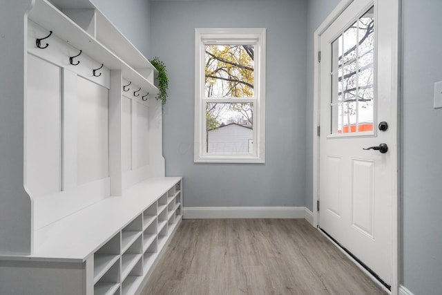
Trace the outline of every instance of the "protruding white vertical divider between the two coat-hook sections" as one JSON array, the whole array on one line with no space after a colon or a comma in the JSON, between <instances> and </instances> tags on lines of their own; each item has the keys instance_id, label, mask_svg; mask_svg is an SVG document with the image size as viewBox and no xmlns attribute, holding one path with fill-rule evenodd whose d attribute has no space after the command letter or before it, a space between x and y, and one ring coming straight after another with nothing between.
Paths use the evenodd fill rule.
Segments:
<instances>
[{"instance_id":1,"label":"protruding white vertical divider between the two coat-hook sections","mask_svg":"<svg viewBox=\"0 0 442 295\"><path fill-rule=\"evenodd\" d=\"M109 90L109 173L111 196L122 195L122 71L111 70Z\"/></svg>"}]
</instances>

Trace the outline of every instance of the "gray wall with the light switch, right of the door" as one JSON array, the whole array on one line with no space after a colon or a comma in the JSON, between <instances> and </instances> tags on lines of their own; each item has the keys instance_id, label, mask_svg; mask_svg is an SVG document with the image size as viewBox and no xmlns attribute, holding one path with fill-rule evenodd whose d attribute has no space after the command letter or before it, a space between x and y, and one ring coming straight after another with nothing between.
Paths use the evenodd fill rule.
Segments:
<instances>
[{"instance_id":1,"label":"gray wall with the light switch, right of the door","mask_svg":"<svg viewBox=\"0 0 442 295\"><path fill-rule=\"evenodd\" d=\"M414 294L442 293L442 1L402 1L403 280Z\"/></svg>"}]
</instances>

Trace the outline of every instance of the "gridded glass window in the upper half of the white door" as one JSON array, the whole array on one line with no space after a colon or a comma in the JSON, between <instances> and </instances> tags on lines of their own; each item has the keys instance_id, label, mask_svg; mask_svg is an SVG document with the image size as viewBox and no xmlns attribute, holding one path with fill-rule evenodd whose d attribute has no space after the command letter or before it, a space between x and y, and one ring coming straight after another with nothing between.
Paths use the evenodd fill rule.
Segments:
<instances>
[{"instance_id":1,"label":"gridded glass window in the upper half of the white door","mask_svg":"<svg viewBox=\"0 0 442 295\"><path fill-rule=\"evenodd\" d=\"M331 77L331 133L373 131L373 8L332 43Z\"/></svg>"}]
</instances>

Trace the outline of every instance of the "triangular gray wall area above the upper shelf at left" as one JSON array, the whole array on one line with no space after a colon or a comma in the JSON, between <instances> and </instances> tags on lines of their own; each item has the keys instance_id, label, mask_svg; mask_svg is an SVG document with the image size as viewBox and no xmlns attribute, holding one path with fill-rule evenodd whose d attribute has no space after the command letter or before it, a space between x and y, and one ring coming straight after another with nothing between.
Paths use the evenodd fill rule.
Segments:
<instances>
[{"instance_id":1,"label":"triangular gray wall area above the upper shelf at left","mask_svg":"<svg viewBox=\"0 0 442 295\"><path fill-rule=\"evenodd\" d=\"M90 0L146 57L149 55L150 5L147 0Z\"/></svg>"}]
</instances>

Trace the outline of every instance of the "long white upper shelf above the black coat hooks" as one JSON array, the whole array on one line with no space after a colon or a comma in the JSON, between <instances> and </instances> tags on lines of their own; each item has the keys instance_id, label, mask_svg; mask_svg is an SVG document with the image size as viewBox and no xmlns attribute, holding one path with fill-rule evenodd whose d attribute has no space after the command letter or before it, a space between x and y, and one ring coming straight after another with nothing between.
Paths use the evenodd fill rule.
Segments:
<instances>
[{"instance_id":1,"label":"long white upper shelf above the black coat hooks","mask_svg":"<svg viewBox=\"0 0 442 295\"><path fill-rule=\"evenodd\" d=\"M64 3L64 1L61 0L55 2L59 5L63 5ZM89 2L86 1L85 3ZM88 11L88 13L90 13L90 5L89 3L89 5L84 8L85 12ZM70 8L70 6L59 6L59 8L73 9ZM43 28L46 28L46 30L52 30L54 35L64 39L71 46L83 50L86 55L102 62L106 68L122 70L125 79L142 87L144 91L148 91L152 94L158 93L158 88L153 84L155 68L148 59L104 17L102 12L94 8L93 28L86 31L61 12L59 8L53 6L46 0L37 0L28 18Z\"/></svg>"}]
</instances>

